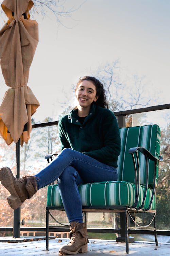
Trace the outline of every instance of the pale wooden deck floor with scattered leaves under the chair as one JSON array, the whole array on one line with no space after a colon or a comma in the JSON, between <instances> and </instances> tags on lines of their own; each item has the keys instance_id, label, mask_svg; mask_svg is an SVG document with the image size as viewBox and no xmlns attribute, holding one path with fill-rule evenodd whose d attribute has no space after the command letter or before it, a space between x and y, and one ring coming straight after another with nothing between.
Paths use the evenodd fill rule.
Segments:
<instances>
[{"instance_id":1,"label":"pale wooden deck floor with scattered leaves under the chair","mask_svg":"<svg viewBox=\"0 0 170 256\"><path fill-rule=\"evenodd\" d=\"M68 243L68 239L62 239L62 242L58 242L59 239L49 240L49 251L46 251L46 241L30 241L19 243L0 242L0 255L1 256L56 256L59 254L59 248L63 244ZM82 256L110 256L110 255L125 255L125 243L117 243L115 241L106 240L89 240L88 252L79 253L77 255ZM133 242L129 243L129 255L135 256L170 256L170 244L159 244L156 247L152 242Z\"/></svg>"}]
</instances>

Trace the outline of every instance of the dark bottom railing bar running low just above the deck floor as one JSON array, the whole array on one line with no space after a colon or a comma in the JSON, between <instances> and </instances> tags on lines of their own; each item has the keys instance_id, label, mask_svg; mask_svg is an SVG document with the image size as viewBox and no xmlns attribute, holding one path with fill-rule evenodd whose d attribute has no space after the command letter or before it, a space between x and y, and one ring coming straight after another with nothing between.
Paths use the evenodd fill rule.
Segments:
<instances>
[{"instance_id":1,"label":"dark bottom railing bar running low just above the deck floor","mask_svg":"<svg viewBox=\"0 0 170 256\"><path fill-rule=\"evenodd\" d=\"M0 231L12 232L12 227L0 227ZM46 232L45 227L21 227L22 232ZM69 228L49 228L49 232L70 232ZM87 228L88 233L117 233L120 234L120 229L105 229L105 228ZM170 230L157 230L158 236L170 236ZM152 234L153 230L149 229L129 229L129 234Z\"/></svg>"}]
</instances>

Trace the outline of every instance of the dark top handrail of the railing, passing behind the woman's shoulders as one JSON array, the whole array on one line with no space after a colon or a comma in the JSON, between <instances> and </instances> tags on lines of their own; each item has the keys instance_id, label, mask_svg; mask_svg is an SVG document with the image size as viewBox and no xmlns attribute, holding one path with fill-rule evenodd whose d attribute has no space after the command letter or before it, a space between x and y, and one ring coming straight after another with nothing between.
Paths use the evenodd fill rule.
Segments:
<instances>
[{"instance_id":1,"label":"dark top handrail of the railing, passing behind the woman's shoulders","mask_svg":"<svg viewBox=\"0 0 170 256\"><path fill-rule=\"evenodd\" d=\"M143 113L143 112L149 112L149 111L163 110L163 109L170 109L170 104L157 105L157 106L151 106L151 107L140 108L140 109L118 111L118 112L114 112L114 114L115 116L120 116L120 115L125 116L125 115L131 115L131 114L137 114L137 113ZM52 126L52 125L58 125L58 121L33 124L32 128L46 127L46 126Z\"/></svg>"}]
</instances>

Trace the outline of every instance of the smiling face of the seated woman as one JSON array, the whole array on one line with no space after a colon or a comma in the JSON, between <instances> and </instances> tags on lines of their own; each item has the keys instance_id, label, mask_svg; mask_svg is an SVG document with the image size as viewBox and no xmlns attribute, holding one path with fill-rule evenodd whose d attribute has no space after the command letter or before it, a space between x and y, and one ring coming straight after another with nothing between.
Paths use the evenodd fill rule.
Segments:
<instances>
[{"instance_id":1,"label":"smiling face of the seated woman","mask_svg":"<svg viewBox=\"0 0 170 256\"><path fill-rule=\"evenodd\" d=\"M96 87L89 80L83 80L75 90L75 96L79 106L82 108L90 108L92 102L97 101Z\"/></svg>"}]
</instances>

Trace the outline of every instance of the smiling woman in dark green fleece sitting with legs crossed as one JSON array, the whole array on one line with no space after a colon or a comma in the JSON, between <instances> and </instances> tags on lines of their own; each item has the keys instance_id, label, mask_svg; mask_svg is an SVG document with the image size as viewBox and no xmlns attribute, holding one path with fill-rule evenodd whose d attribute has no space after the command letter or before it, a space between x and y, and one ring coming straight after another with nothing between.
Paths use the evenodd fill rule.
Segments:
<instances>
[{"instance_id":1,"label":"smiling woman in dark green fleece sitting with legs crossed","mask_svg":"<svg viewBox=\"0 0 170 256\"><path fill-rule=\"evenodd\" d=\"M78 106L59 121L61 153L35 176L14 178L10 168L0 171L2 185L11 193L8 203L18 208L38 189L58 179L62 202L70 223L71 240L60 253L87 252L87 228L82 219L78 185L117 180L121 141L118 123L108 110L103 85L91 76L79 79Z\"/></svg>"}]
</instances>

